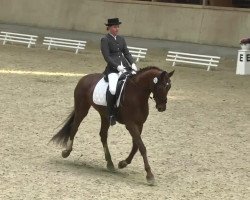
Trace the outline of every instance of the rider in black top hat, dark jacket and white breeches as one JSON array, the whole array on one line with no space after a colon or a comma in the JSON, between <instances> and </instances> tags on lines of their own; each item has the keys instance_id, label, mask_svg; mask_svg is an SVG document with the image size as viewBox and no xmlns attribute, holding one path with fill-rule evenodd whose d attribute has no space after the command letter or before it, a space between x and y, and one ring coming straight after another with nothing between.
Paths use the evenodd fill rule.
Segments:
<instances>
[{"instance_id":1,"label":"rider in black top hat, dark jacket and white breeches","mask_svg":"<svg viewBox=\"0 0 250 200\"><path fill-rule=\"evenodd\" d=\"M107 108L110 125L116 123L115 119L115 92L119 78L119 72L130 71L131 68L137 71L134 60L129 53L125 39L118 35L119 25L121 22L118 18L108 19L105 24L108 34L101 39L101 52L107 62L104 75L108 78L109 90L107 92Z\"/></svg>"}]
</instances>

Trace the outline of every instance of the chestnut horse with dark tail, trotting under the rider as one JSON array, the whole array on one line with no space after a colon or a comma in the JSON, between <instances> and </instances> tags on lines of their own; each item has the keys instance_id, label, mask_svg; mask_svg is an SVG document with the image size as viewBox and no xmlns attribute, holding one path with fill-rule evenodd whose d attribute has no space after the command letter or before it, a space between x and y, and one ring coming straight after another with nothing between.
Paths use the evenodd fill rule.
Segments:
<instances>
[{"instance_id":1,"label":"chestnut horse with dark tail, trotting under the rider","mask_svg":"<svg viewBox=\"0 0 250 200\"><path fill-rule=\"evenodd\" d=\"M173 74L174 71L168 73L155 66L140 69L135 75L127 78L122 97L120 98L120 106L116 112L117 121L120 124L124 124L132 136L131 152L125 160L118 163L118 168L122 169L130 164L139 149L147 174L146 180L150 185L154 185L155 178L149 165L147 150L142 141L141 133L143 124L146 122L149 114L148 101L151 98L151 93L156 103L156 109L159 112L166 110L167 94L171 88L170 77ZM51 141L66 148L62 151L62 157L67 158L72 151L78 127L92 106L99 112L101 117L99 135L103 145L105 160L107 161L107 168L114 171L115 167L107 144L108 129L110 127L107 107L96 105L92 98L94 88L103 76L101 73L88 74L79 80L74 90L74 109L66 119L64 126L52 137Z\"/></svg>"}]
</instances>

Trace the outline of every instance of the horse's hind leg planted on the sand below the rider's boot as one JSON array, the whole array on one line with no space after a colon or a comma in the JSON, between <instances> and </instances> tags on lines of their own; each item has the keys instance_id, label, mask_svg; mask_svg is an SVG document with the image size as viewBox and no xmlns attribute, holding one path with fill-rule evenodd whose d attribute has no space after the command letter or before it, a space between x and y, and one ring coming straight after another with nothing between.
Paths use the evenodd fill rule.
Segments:
<instances>
[{"instance_id":1,"label":"horse's hind leg planted on the sand below the rider's boot","mask_svg":"<svg viewBox=\"0 0 250 200\"><path fill-rule=\"evenodd\" d=\"M103 150L105 154L105 160L107 161L107 168L110 171L114 171L115 167L112 162L111 155L110 155L109 148L108 148L108 143L107 143L108 129L109 129L108 119L105 117L101 117L101 130L99 134L100 134L101 141L102 141L102 146L103 146Z\"/></svg>"}]
</instances>

